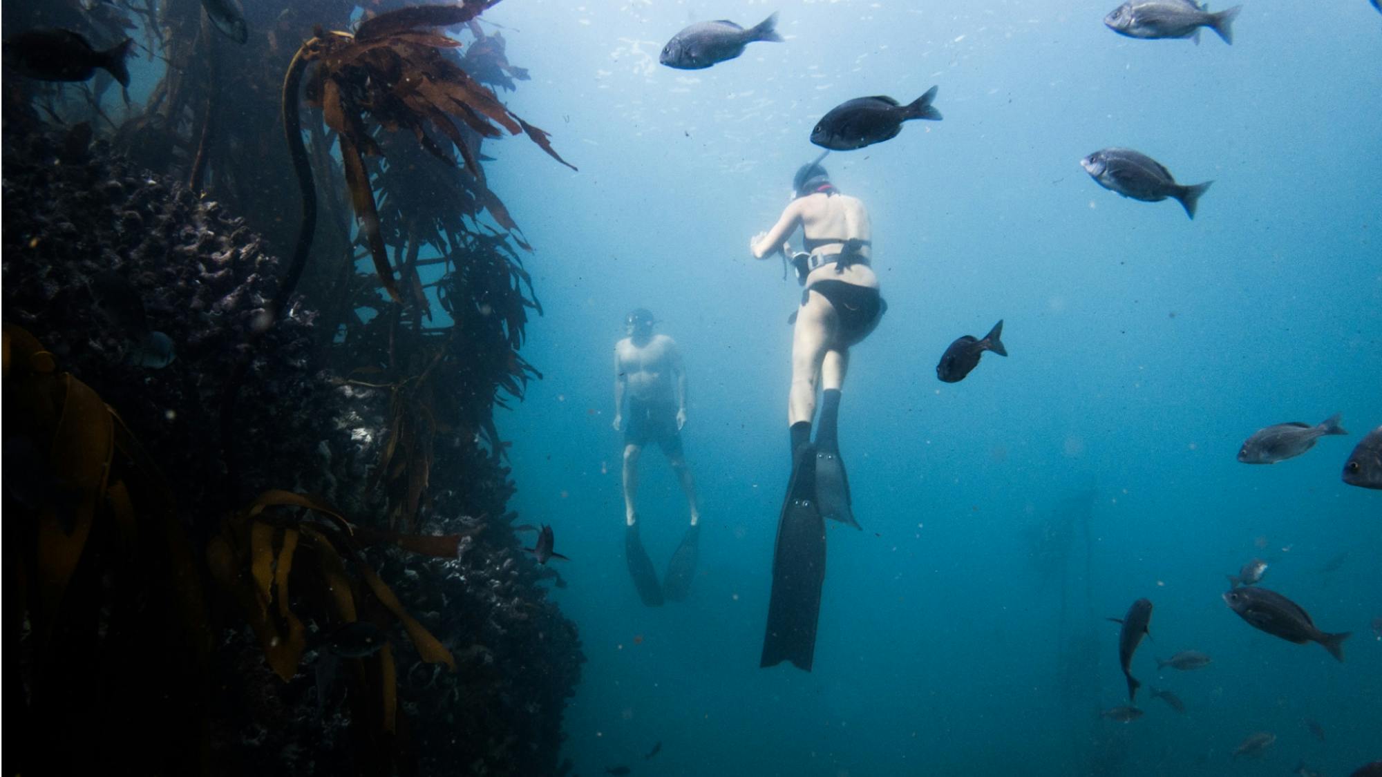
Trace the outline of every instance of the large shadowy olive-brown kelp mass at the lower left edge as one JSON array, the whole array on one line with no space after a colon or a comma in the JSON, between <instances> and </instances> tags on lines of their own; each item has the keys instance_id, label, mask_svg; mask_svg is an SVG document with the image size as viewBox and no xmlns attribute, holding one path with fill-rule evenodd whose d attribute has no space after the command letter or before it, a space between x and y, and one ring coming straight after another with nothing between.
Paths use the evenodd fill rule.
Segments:
<instances>
[{"instance_id":1,"label":"large shadowy olive-brown kelp mass at the lower left edge","mask_svg":"<svg viewBox=\"0 0 1382 777\"><path fill-rule=\"evenodd\" d=\"M15 771L105 758L205 771L210 632L171 489L115 409L32 335L6 324L3 341L6 578L18 592L4 628L28 680L11 712L22 759L41 758ZM64 747L75 727L83 748Z\"/></svg>"}]
</instances>

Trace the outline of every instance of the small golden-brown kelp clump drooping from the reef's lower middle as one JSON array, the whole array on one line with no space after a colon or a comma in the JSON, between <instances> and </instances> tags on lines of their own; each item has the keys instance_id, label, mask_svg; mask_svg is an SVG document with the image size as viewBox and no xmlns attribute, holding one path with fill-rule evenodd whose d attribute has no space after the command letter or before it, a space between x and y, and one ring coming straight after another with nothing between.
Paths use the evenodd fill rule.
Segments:
<instances>
[{"instance_id":1,"label":"small golden-brown kelp clump drooping from the reef's lower middle","mask_svg":"<svg viewBox=\"0 0 1382 777\"><path fill-rule=\"evenodd\" d=\"M315 523L301 510L329 518ZM333 527L322 531L325 525ZM207 546L213 577L239 603L274 672L286 683L307 650L307 629L297 608L310 597L294 597L289 583L326 592L334 611L312 612L319 625L357 621L357 607L375 601L402 624L419 655L428 664L455 669L455 659L426 628L398 604L398 599L361 557L355 528L323 499L287 491L265 491L239 513L225 518L221 534ZM377 532L373 538L381 538ZM383 535L405 547L435 549L417 538ZM457 538L459 542L459 538ZM294 563L303 561L303 563ZM304 565L305 564L305 565ZM347 574L354 568L355 577ZM365 585L361 586L361 582ZM392 719L386 708L384 716Z\"/></svg>"}]
</instances>

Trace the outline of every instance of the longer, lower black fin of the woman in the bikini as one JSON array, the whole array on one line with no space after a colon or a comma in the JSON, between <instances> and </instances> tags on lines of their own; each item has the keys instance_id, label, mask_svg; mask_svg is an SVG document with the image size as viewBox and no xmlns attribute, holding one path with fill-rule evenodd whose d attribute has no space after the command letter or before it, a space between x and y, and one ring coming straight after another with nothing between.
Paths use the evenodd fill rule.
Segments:
<instances>
[{"instance_id":1,"label":"longer, lower black fin of the woman in the bikini","mask_svg":"<svg viewBox=\"0 0 1382 777\"><path fill-rule=\"evenodd\" d=\"M811 671L825 583L825 520L815 505L815 445L796 453L773 549L773 595L759 666L791 661Z\"/></svg>"}]
</instances>

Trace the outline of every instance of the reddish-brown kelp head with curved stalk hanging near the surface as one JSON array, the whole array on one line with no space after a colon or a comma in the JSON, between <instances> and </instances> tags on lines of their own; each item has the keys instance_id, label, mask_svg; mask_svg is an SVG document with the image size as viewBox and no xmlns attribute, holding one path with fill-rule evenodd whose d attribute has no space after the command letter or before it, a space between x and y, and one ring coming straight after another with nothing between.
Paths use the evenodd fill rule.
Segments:
<instances>
[{"instance_id":1,"label":"reddish-brown kelp head with curved stalk hanging near the surface","mask_svg":"<svg viewBox=\"0 0 1382 777\"><path fill-rule=\"evenodd\" d=\"M437 28L474 19L495 1L466 0L457 6L401 8L361 22L354 35L318 32L303 43L285 77L282 101L285 131L304 192L301 234L308 235L307 246L301 238L299 241L294 267L307 259L315 224L315 203L307 207L312 181L297 119L299 84L308 68L312 72L305 86L307 104L321 108L325 123L337 135L361 236L369 246L384 290L395 301L402 297L384 247L375 189L365 165L366 156L381 153L370 130L372 123L391 133L406 130L422 148L446 165L456 163L448 152L448 148L453 149L466 171L481 184L484 171L478 142L467 138L463 129L478 137L500 137L504 130L510 134L525 133L556 160L571 166L551 148L547 133L511 113L488 87L446 55L460 41L435 32ZM498 203L488 189L480 199L486 207ZM491 213L504 223L506 230L517 230L502 205L492 207ZM296 281L299 272L290 270L289 277ZM290 293L292 288L285 286L285 293Z\"/></svg>"}]
</instances>

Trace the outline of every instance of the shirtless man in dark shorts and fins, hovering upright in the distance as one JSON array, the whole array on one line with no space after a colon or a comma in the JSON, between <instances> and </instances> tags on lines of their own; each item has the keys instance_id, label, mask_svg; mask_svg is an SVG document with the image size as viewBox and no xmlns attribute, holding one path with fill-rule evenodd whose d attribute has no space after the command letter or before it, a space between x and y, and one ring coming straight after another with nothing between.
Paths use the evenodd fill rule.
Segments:
<instances>
[{"instance_id":1,"label":"shirtless man in dark shorts and fins, hovering upright in the distance","mask_svg":"<svg viewBox=\"0 0 1382 777\"><path fill-rule=\"evenodd\" d=\"M655 321L644 308L625 317L627 337L614 347L614 429L623 431L625 557L638 596L648 607L663 597L681 600L695 575L701 512L695 481L681 449L681 427L687 422L687 373L681 351L666 335L654 335ZM638 539L638 459L643 447L656 442L666 453L691 507L691 525L668 564L666 581L658 574Z\"/></svg>"}]
</instances>

